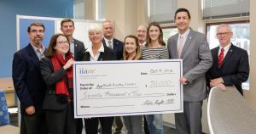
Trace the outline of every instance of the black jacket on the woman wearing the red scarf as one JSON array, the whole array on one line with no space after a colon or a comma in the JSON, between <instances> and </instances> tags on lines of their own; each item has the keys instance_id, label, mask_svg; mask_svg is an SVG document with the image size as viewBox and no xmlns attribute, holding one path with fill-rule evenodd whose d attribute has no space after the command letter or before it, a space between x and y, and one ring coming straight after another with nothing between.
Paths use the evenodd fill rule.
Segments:
<instances>
[{"instance_id":1,"label":"black jacket on the woman wearing the red scarf","mask_svg":"<svg viewBox=\"0 0 256 134\"><path fill-rule=\"evenodd\" d=\"M55 84L61 81L62 76L67 75L66 70L61 68L60 70L54 71L53 64L49 58L42 59L40 65L41 74L47 86L43 109L58 110L67 108L67 96L55 94ZM73 89L69 89L69 91L73 94Z\"/></svg>"}]
</instances>

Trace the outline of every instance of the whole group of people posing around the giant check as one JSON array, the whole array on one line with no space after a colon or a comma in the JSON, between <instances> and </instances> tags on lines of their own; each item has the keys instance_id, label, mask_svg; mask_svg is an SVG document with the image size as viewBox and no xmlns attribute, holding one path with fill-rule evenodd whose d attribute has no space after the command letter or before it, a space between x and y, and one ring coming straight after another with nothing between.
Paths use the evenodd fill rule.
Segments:
<instances>
[{"instance_id":1,"label":"whole group of people posing around the giant check","mask_svg":"<svg viewBox=\"0 0 256 134\"><path fill-rule=\"evenodd\" d=\"M199 134L202 102L207 87L235 86L242 94L241 83L247 81L249 64L247 51L234 46L229 25L218 25L219 47L212 51L204 34L189 27L191 16L186 8L178 8L174 22L178 33L163 41L160 24L139 25L137 36L125 36L124 42L113 37L114 26L104 21L102 28L91 25L88 30L90 47L73 38L74 22L61 21L62 33L51 37L49 47L42 44L44 25L28 26L29 44L16 52L13 60L13 81L20 99L21 134L81 134L83 121L87 134L121 133L163 134L163 115L129 115L74 119L74 61L183 59L183 113L175 114L180 134ZM122 120L123 119L123 120ZM123 124L124 123L124 124ZM99 127L100 124L100 127Z\"/></svg>"}]
</instances>

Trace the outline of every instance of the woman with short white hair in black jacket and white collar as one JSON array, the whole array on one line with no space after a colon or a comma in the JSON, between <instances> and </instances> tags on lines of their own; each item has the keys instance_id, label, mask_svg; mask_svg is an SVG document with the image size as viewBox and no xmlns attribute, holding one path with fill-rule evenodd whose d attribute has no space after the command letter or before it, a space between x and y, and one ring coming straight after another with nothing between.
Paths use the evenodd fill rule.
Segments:
<instances>
[{"instance_id":1,"label":"woman with short white hair in black jacket and white collar","mask_svg":"<svg viewBox=\"0 0 256 134\"><path fill-rule=\"evenodd\" d=\"M91 25L88 30L89 39L92 43L83 54L83 61L117 60L115 53L110 47L102 44L102 29L97 25ZM97 134L98 123L101 123L102 134L112 133L113 117L99 117L85 119L85 131L89 134Z\"/></svg>"}]
</instances>

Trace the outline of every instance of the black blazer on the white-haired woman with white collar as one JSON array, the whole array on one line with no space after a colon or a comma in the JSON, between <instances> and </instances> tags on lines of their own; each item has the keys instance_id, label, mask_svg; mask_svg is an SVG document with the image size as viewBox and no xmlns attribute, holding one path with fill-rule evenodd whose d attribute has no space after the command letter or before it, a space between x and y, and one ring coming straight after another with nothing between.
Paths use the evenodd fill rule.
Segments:
<instances>
[{"instance_id":1,"label":"black blazer on the white-haired woman with white collar","mask_svg":"<svg viewBox=\"0 0 256 134\"><path fill-rule=\"evenodd\" d=\"M115 53L110 47L103 46L104 47L104 53L101 53L99 56L98 61L104 61L104 60L117 60ZM85 52L82 56L82 61L90 61L90 53Z\"/></svg>"}]
</instances>

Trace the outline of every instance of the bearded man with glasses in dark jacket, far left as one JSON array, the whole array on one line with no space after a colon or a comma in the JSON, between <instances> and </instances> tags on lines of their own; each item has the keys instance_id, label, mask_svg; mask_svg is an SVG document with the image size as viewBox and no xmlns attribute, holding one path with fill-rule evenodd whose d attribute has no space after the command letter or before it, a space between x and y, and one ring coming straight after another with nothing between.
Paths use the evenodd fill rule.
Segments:
<instances>
[{"instance_id":1,"label":"bearded man with glasses in dark jacket, far left","mask_svg":"<svg viewBox=\"0 0 256 134\"><path fill-rule=\"evenodd\" d=\"M28 26L30 43L16 52L13 60L13 81L20 99L21 134L48 133L42 104L46 86L40 72L44 58L44 25L34 22Z\"/></svg>"}]
</instances>

